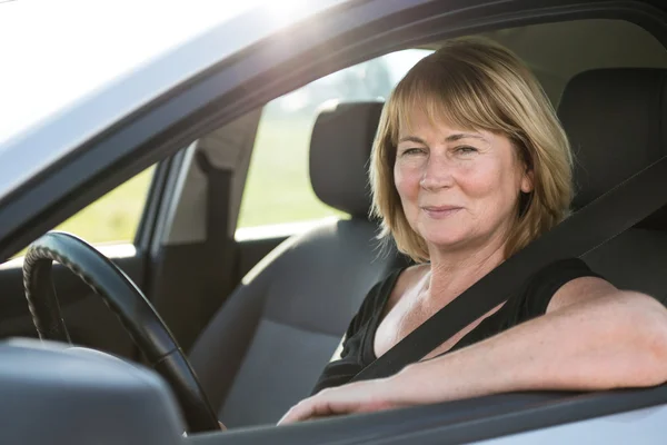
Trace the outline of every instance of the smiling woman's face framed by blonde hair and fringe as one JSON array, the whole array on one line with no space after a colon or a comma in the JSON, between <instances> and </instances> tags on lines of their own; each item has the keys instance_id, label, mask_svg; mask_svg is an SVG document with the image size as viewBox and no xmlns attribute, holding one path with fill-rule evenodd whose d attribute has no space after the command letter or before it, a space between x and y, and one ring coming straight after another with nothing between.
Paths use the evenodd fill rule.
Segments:
<instances>
[{"instance_id":1,"label":"smiling woman's face framed by blonde hair and fringe","mask_svg":"<svg viewBox=\"0 0 667 445\"><path fill-rule=\"evenodd\" d=\"M429 248L504 243L531 175L502 135L432 125L424 113L401 128L395 185L408 222Z\"/></svg>"}]
</instances>

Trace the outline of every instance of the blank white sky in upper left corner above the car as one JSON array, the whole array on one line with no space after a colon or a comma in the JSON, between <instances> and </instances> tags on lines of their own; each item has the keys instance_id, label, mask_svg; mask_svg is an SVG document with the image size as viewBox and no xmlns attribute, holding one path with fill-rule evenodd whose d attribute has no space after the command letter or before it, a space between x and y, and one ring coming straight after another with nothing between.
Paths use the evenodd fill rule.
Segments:
<instances>
[{"instance_id":1,"label":"blank white sky in upper left corner above the car","mask_svg":"<svg viewBox=\"0 0 667 445\"><path fill-rule=\"evenodd\" d=\"M0 0L0 146L265 0Z\"/></svg>"}]
</instances>

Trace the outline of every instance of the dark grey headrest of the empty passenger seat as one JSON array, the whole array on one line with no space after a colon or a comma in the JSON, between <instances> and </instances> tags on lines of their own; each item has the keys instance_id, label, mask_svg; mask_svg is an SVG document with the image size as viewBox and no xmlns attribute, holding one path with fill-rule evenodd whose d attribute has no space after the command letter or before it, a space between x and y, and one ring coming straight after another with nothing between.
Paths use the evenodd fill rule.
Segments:
<instances>
[{"instance_id":1,"label":"dark grey headrest of the empty passenger seat","mask_svg":"<svg viewBox=\"0 0 667 445\"><path fill-rule=\"evenodd\" d=\"M368 166L382 102L340 102L320 111L310 139L310 182L325 204L368 216Z\"/></svg>"}]
</instances>

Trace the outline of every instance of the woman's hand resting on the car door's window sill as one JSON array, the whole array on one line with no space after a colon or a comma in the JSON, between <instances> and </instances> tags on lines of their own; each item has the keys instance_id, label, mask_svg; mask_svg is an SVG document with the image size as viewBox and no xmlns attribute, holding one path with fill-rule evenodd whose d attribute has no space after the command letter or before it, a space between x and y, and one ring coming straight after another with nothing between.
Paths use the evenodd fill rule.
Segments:
<instances>
[{"instance_id":1,"label":"woman's hand resting on the car door's window sill","mask_svg":"<svg viewBox=\"0 0 667 445\"><path fill-rule=\"evenodd\" d=\"M328 388L295 405L278 425L341 414L369 413L407 406L391 378L356 382Z\"/></svg>"}]
</instances>

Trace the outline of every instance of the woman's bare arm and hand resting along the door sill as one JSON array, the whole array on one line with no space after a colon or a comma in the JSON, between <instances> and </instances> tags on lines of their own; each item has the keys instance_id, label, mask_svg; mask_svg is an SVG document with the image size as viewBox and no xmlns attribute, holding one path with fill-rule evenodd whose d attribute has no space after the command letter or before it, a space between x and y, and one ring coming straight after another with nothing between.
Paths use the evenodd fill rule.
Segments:
<instances>
[{"instance_id":1,"label":"woman's bare arm and hand resting along the door sill","mask_svg":"<svg viewBox=\"0 0 667 445\"><path fill-rule=\"evenodd\" d=\"M325 389L281 421L529 389L607 389L667 380L667 309L654 298L577 278L547 314L397 375Z\"/></svg>"}]
</instances>

